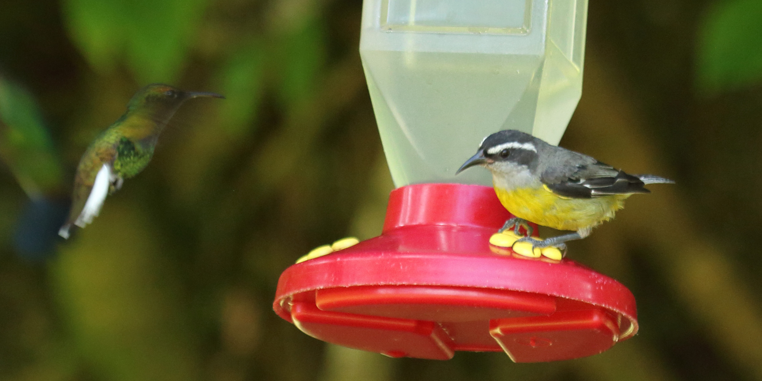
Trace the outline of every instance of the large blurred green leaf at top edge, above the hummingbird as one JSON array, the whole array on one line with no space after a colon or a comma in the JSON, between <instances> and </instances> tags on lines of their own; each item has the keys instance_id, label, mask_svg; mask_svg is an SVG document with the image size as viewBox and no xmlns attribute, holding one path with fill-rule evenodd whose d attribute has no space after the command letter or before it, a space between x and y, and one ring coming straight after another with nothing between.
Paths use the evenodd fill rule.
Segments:
<instances>
[{"instance_id":1,"label":"large blurred green leaf at top edge, above the hummingbird","mask_svg":"<svg viewBox=\"0 0 762 381\"><path fill-rule=\"evenodd\" d=\"M207 0L65 0L69 34L94 69L120 59L140 82L174 82Z\"/></svg>"}]
</instances>

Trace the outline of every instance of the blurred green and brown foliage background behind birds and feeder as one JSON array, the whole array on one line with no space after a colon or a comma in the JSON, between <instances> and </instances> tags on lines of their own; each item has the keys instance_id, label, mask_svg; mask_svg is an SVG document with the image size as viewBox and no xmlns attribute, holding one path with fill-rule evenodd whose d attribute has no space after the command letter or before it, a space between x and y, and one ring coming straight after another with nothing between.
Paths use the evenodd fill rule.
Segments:
<instances>
[{"instance_id":1,"label":"blurred green and brown foliage background behind birds and feeder","mask_svg":"<svg viewBox=\"0 0 762 381\"><path fill-rule=\"evenodd\" d=\"M591 2L562 145L677 180L571 244L635 293L635 338L557 363L392 360L278 318L280 272L377 235L393 187L360 8L0 1L0 379L762 379L758 0ZM80 155L149 82L227 100L185 104L146 171L56 239Z\"/></svg>"}]
</instances>

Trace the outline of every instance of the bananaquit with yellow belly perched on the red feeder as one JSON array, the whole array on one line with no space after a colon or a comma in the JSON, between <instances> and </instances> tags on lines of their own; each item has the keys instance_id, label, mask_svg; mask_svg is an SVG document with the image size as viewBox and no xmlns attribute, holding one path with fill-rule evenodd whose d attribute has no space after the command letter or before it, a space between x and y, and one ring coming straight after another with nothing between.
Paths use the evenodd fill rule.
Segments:
<instances>
[{"instance_id":1,"label":"bananaquit with yellow belly perched on the red feeder","mask_svg":"<svg viewBox=\"0 0 762 381\"><path fill-rule=\"evenodd\" d=\"M517 218L509 219L500 232L519 226L535 248L556 247L584 239L600 223L612 219L632 194L651 193L645 184L673 184L652 174L627 174L588 155L552 146L542 139L516 130L487 136L479 152L456 174L480 165L492 172L498 199ZM559 230L574 230L545 240L533 239L527 221Z\"/></svg>"}]
</instances>

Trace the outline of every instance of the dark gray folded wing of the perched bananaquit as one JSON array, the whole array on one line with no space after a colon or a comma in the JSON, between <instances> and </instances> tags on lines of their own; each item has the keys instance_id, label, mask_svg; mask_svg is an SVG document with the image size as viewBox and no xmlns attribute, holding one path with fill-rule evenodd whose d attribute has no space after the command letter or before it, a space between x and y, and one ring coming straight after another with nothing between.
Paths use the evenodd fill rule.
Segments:
<instances>
[{"instance_id":1,"label":"dark gray folded wing of the perched bananaquit","mask_svg":"<svg viewBox=\"0 0 762 381\"><path fill-rule=\"evenodd\" d=\"M569 198L651 193L637 176L602 162L549 168L540 176L540 181L553 193Z\"/></svg>"}]
</instances>

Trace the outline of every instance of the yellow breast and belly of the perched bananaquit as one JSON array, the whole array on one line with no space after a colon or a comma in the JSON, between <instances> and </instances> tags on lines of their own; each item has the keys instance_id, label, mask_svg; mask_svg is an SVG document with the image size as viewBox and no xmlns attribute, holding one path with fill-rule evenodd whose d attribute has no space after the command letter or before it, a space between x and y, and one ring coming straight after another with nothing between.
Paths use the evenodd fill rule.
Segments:
<instances>
[{"instance_id":1,"label":"yellow breast and belly of the perched bananaquit","mask_svg":"<svg viewBox=\"0 0 762 381\"><path fill-rule=\"evenodd\" d=\"M624 207L629 194L585 199L559 197L545 187L511 191L495 187L500 203L511 214L542 226L559 230L578 230L597 226L613 218Z\"/></svg>"}]
</instances>

